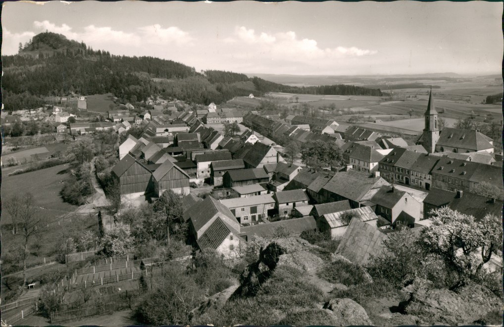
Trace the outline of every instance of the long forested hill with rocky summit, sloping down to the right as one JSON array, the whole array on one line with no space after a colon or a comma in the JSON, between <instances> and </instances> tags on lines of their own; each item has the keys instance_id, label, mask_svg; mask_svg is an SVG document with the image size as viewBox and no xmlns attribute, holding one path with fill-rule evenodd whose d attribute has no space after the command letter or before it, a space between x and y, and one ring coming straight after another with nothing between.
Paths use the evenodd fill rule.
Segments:
<instances>
[{"instance_id":1,"label":"long forested hill with rocky summit, sloping down to the right","mask_svg":"<svg viewBox=\"0 0 504 327\"><path fill-rule=\"evenodd\" d=\"M196 72L171 60L153 57L125 57L93 50L85 43L64 35L43 32L34 36L14 56L3 56L4 105L8 111L26 108L44 96L113 93L131 100L145 100L153 94L188 103L222 103L250 93L288 92L303 94L376 95L379 89L352 85L294 87L244 74L209 70ZM25 100L32 95L30 101Z\"/></svg>"}]
</instances>

